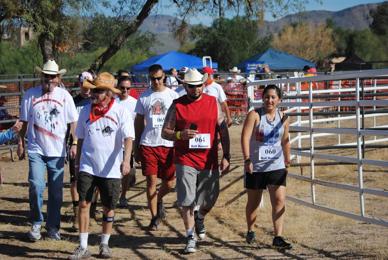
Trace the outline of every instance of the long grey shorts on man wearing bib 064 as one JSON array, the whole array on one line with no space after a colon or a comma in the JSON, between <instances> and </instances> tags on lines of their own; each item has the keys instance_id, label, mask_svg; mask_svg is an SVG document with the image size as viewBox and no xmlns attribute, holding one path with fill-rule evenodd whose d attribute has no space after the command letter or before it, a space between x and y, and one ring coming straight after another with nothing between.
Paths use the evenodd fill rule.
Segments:
<instances>
[{"instance_id":1,"label":"long grey shorts on man wearing bib 064","mask_svg":"<svg viewBox=\"0 0 388 260\"><path fill-rule=\"evenodd\" d=\"M220 193L220 173L218 169L201 170L176 164L178 206L213 207Z\"/></svg>"}]
</instances>

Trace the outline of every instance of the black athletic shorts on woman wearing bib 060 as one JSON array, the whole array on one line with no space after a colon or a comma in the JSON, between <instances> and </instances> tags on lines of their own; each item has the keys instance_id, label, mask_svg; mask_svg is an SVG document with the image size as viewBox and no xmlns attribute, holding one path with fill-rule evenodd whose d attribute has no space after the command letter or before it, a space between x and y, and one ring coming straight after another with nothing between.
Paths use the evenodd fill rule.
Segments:
<instances>
[{"instance_id":1,"label":"black athletic shorts on woman wearing bib 060","mask_svg":"<svg viewBox=\"0 0 388 260\"><path fill-rule=\"evenodd\" d=\"M268 184L286 186L287 172L285 169L269 172L244 172L244 188L267 189Z\"/></svg>"}]
</instances>

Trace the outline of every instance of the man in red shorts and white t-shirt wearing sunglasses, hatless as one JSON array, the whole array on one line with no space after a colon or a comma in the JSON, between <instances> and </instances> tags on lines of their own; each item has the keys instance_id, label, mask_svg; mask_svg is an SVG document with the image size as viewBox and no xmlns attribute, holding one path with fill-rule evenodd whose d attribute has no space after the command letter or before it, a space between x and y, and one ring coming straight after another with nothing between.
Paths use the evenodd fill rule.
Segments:
<instances>
[{"instance_id":1,"label":"man in red shorts and white t-shirt wearing sunglasses, hatless","mask_svg":"<svg viewBox=\"0 0 388 260\"><path fill-rule=\"evenodd\" d=\"M175 165L172 163L174 144L163 139L161 129L168 108L177 92L163 85L165 74L159 64L153 64L148 69L152 87L140 94L136 103L135 148L133 158L142 165L142 174L147 180L147 200L151 211L149 231L158 230L159 219L166 217L163 197L170 192ZM144 127L144 119L147 125ZM161 179L159 191L156 192L156 180Z\"/></svg>"}]
</instances>

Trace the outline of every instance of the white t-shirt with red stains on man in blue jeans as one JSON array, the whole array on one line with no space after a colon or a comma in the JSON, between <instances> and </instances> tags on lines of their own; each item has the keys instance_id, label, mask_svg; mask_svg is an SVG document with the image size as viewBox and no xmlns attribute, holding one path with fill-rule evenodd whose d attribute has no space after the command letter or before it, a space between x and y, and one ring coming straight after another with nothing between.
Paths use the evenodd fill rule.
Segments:
<instances>
[{"instance_id":1,"label":"white t-shirt with red stains on man in blue jeans","mask_svg":"<svg viewBox=\"0 0 388 260\"><path fill-rule=\"evenodd\" d=\"M67 124L77 119L68 91L55 87L47 93L42 91L42 85L27 90L21 103L20 120L28 122L28 152L65 157Z\"/></svg>"}]
</instances>

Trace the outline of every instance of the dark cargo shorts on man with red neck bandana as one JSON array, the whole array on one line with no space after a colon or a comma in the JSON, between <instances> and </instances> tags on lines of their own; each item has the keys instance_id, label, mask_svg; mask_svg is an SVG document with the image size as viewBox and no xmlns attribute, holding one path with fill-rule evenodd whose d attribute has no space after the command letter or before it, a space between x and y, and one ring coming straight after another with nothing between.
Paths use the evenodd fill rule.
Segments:
<instances>
[{"instance_id":1,"label":"dark cargo shorts on man with red neck bandana","mask_svg":"<svg viewBox=\"0 0 388 260\"><path fill-rule=\"evenodd\" d=\"M101 204L111 210L116 208L120 196L121 179L104 178L79 172L77 180L77 192L80 201L92 201L94 188L97 186L100 191Z\"/></svg>"}]
</instances>

